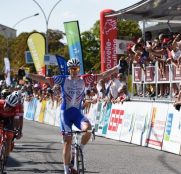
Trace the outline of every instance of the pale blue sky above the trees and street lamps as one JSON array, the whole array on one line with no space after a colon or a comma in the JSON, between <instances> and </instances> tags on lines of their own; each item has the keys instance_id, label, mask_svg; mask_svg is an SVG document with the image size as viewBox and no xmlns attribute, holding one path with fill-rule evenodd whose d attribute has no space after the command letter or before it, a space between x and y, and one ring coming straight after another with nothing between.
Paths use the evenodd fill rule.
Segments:
<instances>
[{"instance_id":1,"label":"pale blue sky above the trees and street lamps","mask_svg":"<svg viewBox=\"0 0 181 174\"><path fill-rule=\"evenodd\" d=\"M58 0L36 0L46 14L46 18ZM140 0L62 0L53 10L48 28L64 31L64 22L78 20L80 31L89 30L99 19L100 11L104 9L120 10ZM45 17L33 0L1 0L0 24L13 27L21 19L39 13L20 22L15 29L19 35L22 32L46 31Z\"/></svg>"}]
</instances>

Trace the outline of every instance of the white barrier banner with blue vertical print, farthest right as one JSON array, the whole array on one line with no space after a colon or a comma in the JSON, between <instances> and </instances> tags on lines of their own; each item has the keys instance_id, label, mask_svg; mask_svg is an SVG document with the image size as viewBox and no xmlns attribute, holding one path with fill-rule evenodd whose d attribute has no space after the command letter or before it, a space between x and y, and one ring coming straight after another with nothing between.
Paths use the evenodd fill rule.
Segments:
<instances>
[{"instance_id":1,"label":"white barrier banner with blue vertical print, farthest right","mask_svg":"<svg viewBox=\"0 0 181 174\"><path fill-rule=\"evenodd\" d=\"M181 145L181 111L169 104L162 150L180 154Z\"/></svg>"}]
</instances>

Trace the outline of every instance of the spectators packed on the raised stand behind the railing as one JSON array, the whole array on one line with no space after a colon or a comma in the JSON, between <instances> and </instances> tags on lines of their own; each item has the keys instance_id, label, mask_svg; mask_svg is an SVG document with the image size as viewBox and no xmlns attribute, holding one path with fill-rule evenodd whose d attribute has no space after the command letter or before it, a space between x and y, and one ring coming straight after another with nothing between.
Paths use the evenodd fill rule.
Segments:
<instances>
[{"instance_id":1,"label":"spectators packed on the raised stand behind the railing","mask_svg":"<svg viewBox=\"0 0 181 174\"><path fill-rule=\"evenodd\" d=\"M160 33L156 38L152 38L150 32L147 32L145 40L139 38L137 43L128 46L127 60L134 66L141 67L143 74L146 75L147 66L158 66L161 78L166 78L169 66L176 68L181 72L181 35L179 33L163 34ZM154 75L156 72L153 72ZM141 85L135 85L135 95L150 96L156 95L155 84L146 85L145 94ZM170 90L169 83L158 84L157 97L178 97L179 83L172 83Z\"/></svg>"}]
</instances>

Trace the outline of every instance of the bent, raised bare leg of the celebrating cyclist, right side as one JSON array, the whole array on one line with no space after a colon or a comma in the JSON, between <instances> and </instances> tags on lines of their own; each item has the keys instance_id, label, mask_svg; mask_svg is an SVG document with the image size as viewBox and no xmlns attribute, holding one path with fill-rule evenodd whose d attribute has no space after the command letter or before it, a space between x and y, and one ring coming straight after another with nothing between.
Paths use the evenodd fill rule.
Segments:
<instances>
[{"instance_id":1,"label":"bent, raised bare leg of the celebrating cyclist, right side","mask_svg":"<svg viewBox=\"0 0 181 174\"><path fill-rule=\"evenodd\" d=\"M81 129L83 131L87 131L87 130L91 130L91 124L89 122L83 122L81 124ZM81 139L81 144L82 145L85 145L88 143L88 141L90 140L91 138L91 132L85 132L83 135L82 135L82 139Z\"/></svg>"}]
</instances>

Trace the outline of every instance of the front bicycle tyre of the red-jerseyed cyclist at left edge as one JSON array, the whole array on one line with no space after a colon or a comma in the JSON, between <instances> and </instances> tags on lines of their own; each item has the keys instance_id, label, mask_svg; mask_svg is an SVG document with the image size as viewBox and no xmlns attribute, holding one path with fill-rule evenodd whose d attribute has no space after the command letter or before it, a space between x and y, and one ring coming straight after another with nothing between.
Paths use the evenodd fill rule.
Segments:
<instances>
[{"instance_id":1,"label":"front bicycle tyre of the red-jerseyed cyclist at left edge","mask_svg":"<svg viewBox=\"0 0 181 174\"><path fill-rule=\"evenodd\" d=\"M0 147L0 172L1 174L4 173L4 167L6 165L6 160L7 160L7 157L6 157L6 144L3 143Z\"/></svg>"}]
</instances>

